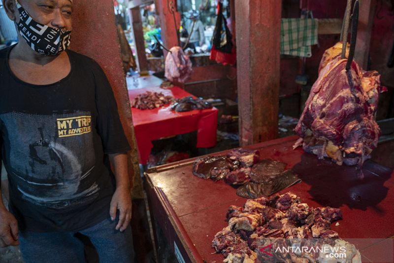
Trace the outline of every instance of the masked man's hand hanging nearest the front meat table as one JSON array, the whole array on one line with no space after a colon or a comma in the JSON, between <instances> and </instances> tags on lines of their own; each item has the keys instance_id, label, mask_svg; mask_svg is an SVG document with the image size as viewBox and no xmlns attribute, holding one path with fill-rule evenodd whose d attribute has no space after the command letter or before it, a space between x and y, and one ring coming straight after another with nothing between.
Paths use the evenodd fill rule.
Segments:
<instances>
[{"instance_id":1,"label":"masked man's hand hanging nearest the front meat table","mask_svg":"<svg viewBox=\"0 0 394 263\"><path fill-rule=\"evenodd\" d=\"M122 232L129 225L131 220L131 194L130 188L116 188L112 196L111 205L109 208L109 215L111 220L116 218L116 210L119 210L119 222L116 225L116 230L120 229Z\"/></svg>"}]
</instances>

